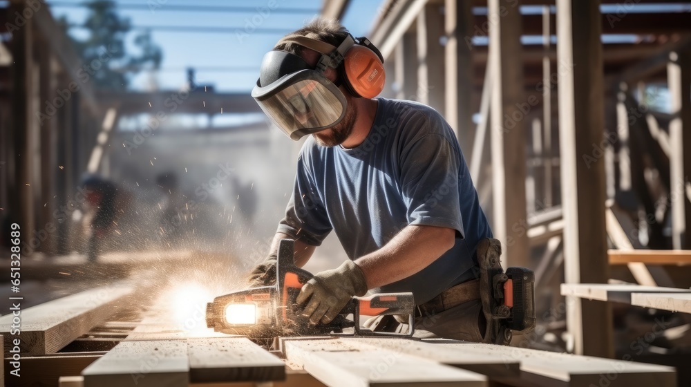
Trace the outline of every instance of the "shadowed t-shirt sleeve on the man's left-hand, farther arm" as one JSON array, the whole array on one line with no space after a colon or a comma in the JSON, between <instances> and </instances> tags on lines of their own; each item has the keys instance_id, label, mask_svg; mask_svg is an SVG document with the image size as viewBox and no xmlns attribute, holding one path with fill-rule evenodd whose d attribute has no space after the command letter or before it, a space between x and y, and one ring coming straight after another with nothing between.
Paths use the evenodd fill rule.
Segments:
<instances>
[{"instance_id":1,"label":"shadowed t-shirt sleeve on the man's left-hand, farther arm","mask_svg":"<svg viewBox=\"0 0 691 387\"><path fill-rule=\"evenodd\" d=\"M332 226L319 194L315 191L310 171L305 168L302 155L298 158L293 193L285 209L285 218L278 223L277 232L301 239L307 245L319 246L331 232Z\"/></svg>"}]
</instances>

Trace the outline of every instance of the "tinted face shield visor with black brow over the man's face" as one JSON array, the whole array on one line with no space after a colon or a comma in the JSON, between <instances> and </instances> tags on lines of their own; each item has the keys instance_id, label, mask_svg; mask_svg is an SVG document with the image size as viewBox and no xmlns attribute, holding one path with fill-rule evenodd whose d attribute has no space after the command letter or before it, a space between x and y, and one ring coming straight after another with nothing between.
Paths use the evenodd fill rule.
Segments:
<instances>
[{"instance_id":1,"label":"tinted face shield visor with black brow over the man's face","mask_svg":"<svg viewBox=\"0 0 691 387\"><path fill-rule=\"evenodd\" d=\"M252 97L292 140L338 124L347 106L345 95L319 70L279 50L264 56Z\"/></svg>"}]
</instances>

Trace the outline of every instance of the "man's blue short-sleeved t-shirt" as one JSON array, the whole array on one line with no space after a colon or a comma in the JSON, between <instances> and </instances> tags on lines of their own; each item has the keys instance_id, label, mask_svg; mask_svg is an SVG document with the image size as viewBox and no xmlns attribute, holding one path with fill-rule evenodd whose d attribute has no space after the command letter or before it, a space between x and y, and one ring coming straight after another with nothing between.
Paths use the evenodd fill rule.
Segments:
<instances>
[{"instance_id":1,"label":"man's blue short-sleeved t-shirt","mask_svg":"<svg viewBox=\"0 0 691 387\"><path fill-rule=\"evenodd\" d=\"M455 229L448 252L421 272L375 290L413 292L420 304L473 278L475 247L492 232L444 117L416 102L378 101L372 129L358 147L321 147L307 138L278 232L318 246L333 229L356 259L407 225Z\"/></svg>"}]
</instances>

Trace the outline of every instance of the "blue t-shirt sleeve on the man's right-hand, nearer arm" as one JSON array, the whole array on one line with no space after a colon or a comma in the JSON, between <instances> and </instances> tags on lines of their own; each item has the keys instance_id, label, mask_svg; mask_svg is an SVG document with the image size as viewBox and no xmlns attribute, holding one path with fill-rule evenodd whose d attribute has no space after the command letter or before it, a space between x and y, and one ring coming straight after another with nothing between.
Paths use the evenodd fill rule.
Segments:
<instances>
[{"instance_id":1,"label":"blue t-shirt sleeve on the man's right-hand, nearer arm","mask_svg":"<svg viewBox=\"0 0 691 387\"><path fill-rule=\"evenodd\" d=\"M464 238L459 198L460 155L438 133L415 139L401 154L401 187L409 225L448 227Z\"/></svg>"}]
</instances>

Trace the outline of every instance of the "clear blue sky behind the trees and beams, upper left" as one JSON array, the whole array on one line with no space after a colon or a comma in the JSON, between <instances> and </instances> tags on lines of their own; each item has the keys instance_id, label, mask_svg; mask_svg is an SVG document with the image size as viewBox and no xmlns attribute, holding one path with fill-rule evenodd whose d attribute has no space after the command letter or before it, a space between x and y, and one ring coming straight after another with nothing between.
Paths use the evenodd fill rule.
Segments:
<instances>
[{"instance_id":1,"label":"clear blue sky behind the trees and beams, upper left","mask_svg":"<svg viewBox=\"0 0 691 387\"><path fill-rule=\"evenodd\" d=\"M86 10L79 6L82 0L48 0L53 3L54 17L65 15L70 23L79 24L86 17ZM287 32L299 28L305 21L319 13L322 0L116 0L122 8L120 15L131 19L133 26L181 26L218 27L223 32L190 30L166 30L152 28L153 41L163 49L161 70L157 73L140 73L131 82L131 88L146 90L158 84L162 90L178 89L187 79L186 68L194 67L199 83L214 84L216 91L250 91L258 76L263 55ZM150 9L147 4L160 4ZM370 31L381 0L352 0L343 24L353 35L366 35ZM129 5L142 9L130 9ZM169 7L171 6L171 7ZM202 8L242 7L244 12L197 12L173 10L176 6ZM269 9L272 6L274 9ZM167 9L169 7L169 9ZM299 9L304 12L285 12ZM268 12L267 12L268 11ZM256 27L257 30L252 31ZM268 32L260 29L270 30ZM70 30L79 37L78 28ZM245 35L246 34L246 35ZM131 32L128 39L135 35ZM154 82L152 82L152 80Z\"/></svg>"}]
</instances>

